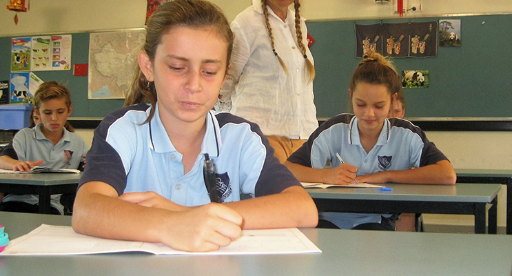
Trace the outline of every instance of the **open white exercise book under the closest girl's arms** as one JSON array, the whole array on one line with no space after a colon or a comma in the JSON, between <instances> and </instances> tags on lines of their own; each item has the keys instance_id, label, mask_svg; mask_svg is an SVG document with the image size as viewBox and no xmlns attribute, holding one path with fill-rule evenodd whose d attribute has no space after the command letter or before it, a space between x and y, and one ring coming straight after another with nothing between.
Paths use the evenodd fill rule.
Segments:
<instances>
[{"instance_id":1,"label":"open white exercise book under the closest girl's arms","mask_svg":"<svg viewBox=\"0 0 512 276\"><path fill-rule=\"evenodd\" d=\"M42 224L14 239L0 255L85 255L116 252L146 252L155 255L243 255L321 253L297 228L243 230L229 246L206 253L174 250L163 244L101 239L75 233L71 226Z\"/></svg>"}]
</instances>

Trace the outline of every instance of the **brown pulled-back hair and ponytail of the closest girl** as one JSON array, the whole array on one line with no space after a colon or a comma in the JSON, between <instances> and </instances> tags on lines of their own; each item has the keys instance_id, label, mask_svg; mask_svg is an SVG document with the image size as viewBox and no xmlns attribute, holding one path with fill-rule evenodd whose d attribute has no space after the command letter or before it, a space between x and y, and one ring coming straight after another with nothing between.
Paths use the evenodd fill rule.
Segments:
<instances>
[{"instance_id":1,"label":"brown pulled-back hair and ponytail of the closest girl","mask_svg":"<svg viewBox=\"0 0 512 276\"><path fill-rule=\"evenodd\" d=\"M229 22L218 6L203 0L174 0L163 3L147 21L146 39L142 50L154 62L156 48L162 42L162 37L174 27L211 28L216 30L227 42L227 63L233 50L234 35L229 28ZM136 103L151 103L150 115L144 124L151 121L156 106L156 90L154 83L147 81L139 66L136 67L134 81L130 93L125 99L125 106Z\"/></svg>"}]
</instances>

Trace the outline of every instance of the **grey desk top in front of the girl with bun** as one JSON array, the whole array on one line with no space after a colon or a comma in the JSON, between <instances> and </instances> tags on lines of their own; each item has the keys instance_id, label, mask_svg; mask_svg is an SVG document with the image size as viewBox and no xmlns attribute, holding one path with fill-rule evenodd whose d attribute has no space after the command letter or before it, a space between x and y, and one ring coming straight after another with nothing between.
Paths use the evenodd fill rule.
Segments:
<instances>
[{"instance_id":1,"label":"grey desk top in front of the girl with bun","mask_svg":"<svg viewBox=\"0 0 512 276\"><path fill-rule=\"evenodd\" d=\"M501 189L500 184L413 185L385 184L391 191L375 188L307 188L318 199L365 199L396 201L491 202Z\"/></svg>"}]
</instances>

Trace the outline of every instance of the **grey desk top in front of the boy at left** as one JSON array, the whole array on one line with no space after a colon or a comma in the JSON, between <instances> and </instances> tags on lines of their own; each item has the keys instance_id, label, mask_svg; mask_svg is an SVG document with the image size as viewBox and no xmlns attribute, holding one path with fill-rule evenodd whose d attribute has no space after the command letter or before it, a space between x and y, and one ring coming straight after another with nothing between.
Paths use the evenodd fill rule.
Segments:
<instances>
[{"instance_id":1,"label":"grey desk top in front of the boy at left","mask_svg":"<svg viewBox=\"0 0 512 276\"><path fill-rule=\"evenodd\" d=\"M1 184L23 184L48 186L60 184L78 184L80 173L0 173Z\"/></svg>"}]
</instances>

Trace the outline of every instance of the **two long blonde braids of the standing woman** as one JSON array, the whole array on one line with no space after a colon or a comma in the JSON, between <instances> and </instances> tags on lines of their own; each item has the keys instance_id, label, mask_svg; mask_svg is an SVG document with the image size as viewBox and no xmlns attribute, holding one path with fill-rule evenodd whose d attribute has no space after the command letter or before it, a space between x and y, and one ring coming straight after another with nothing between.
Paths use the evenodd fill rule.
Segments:
<instances>
[{"instance_id":1,"label":"two long blonde braids of the standing woman","mask_svg":"<svg viewBox=\"0 0 512 276\"><path fill-rule=\"evenodd\" d=\"M281 64L281 67L283 67L283 70L285 70L286 74L288 74L288 69L286 68L285 61L279 57L278 53L276 52L276 48L274 47L274 35L272 34L272 26L270 26L269 21L269 11L267 10L267 0L261 0L261 7L263 8L263 14L265 15L265 23L267 23L267 31L269 33L270 37L270 44L272 45L272 52L274 52L274 55L276 55L279 63ZM295 33L297 36L297 44L298 48L300 48L300 52L302 52L304 59L306 60L306 68L307 72L309 74L309 82L313 81L315 78L315 67L313 66L313 63L307 58L306 54L306 46L303 43L303 31L300 28L300 3L299 0L294 0L294 7L295 7Z\"/></svg>"}]
</instances>

